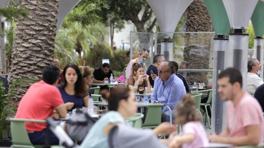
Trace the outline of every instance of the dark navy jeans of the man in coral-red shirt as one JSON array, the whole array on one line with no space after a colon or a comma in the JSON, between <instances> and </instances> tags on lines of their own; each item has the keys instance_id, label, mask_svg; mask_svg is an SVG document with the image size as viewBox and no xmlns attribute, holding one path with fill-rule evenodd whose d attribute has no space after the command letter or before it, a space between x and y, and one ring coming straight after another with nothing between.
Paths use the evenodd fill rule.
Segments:
<instances>
[{"instance_id":1,"label":"dark navy jeans of the man in coral-red shirt","mask_svg":"<svg viewBox=\"0 0 264 148\"><path fill-rule=\"evenodd\" d=\"M46 131L47 131L47 129L44 129L41 132L30 132L30 133L28 133L31 143L34 145L45 144ZM54 133L51 130L49 131L49 144L59 144L58 138L54 135Z\"/></svg>"}]
</instances>

